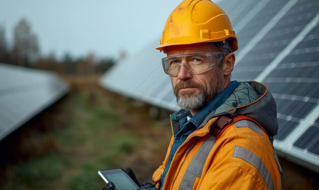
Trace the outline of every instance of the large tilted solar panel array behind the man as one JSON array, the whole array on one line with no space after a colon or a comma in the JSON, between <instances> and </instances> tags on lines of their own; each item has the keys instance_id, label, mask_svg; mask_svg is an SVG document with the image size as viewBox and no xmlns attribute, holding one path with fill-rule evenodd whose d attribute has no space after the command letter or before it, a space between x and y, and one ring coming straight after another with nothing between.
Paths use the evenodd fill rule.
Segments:
<instances>
[{"instance_id":1,"label":"large tilted solar panel array behind the man","mask_svg":"<svg viewBox=\"0 0 319 190\"><path fill-rule=\"evenodd\" d=\"M268 85L277 103L279 130L275 148L319 172L319 2L245 0L221 1L219 5L228 14L238 38L232 78ZM147 49L147 60L155 64L151 66L154 77L149 75L149 79L156 87L135 93L146 95L146 102L156 99L162 103L155 105L175 111L178 107L169 90L170 80L159 68L164 55L159 56L154 50L157 45L152 43L152 49ZM143 63L132 59L126 63L143 68ZM119 73L115 67L112 74ZM135 75L146 73L147 68ZM108 73L101 81L123 90L122 84ZM132 77L129 84L136 88L142 83Z\"/></svg>"}]
</instances>

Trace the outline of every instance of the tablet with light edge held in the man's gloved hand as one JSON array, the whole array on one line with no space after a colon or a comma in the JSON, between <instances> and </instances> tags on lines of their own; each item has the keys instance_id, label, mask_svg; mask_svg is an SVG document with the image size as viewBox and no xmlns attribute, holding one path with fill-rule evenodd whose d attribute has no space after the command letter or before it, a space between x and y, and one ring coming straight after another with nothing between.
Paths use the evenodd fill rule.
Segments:
<instances>
[{"instance_id":1,"label":"tablet with light edge held in the man's gloved hand","mask_svg":"<svg viewBox=\"0 0 319 190\"><path fill-rule=\"evenodd\" d=\"M98 174L105 183L112 181L115 184L116 190L136 190L139 188L139 186L121 168L99 170Z\"/></svg>"}]
</instances>

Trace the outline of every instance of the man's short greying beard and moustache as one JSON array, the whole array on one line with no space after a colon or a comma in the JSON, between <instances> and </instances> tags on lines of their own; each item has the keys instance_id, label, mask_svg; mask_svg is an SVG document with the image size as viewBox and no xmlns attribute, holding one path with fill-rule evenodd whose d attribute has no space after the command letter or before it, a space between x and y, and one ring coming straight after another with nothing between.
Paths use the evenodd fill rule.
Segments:
<instances>
[{"instance_id":1,"label":"man's short greying beard and moustache","mask_svg":"<svg viewBox=\"0 0 319 190\"><path fill-rule=\"evenodd\" d=\"M205 87L193 80L181 80L173 87L178 106L184 110L199 110L223 90L222 69L218 68L217 76L212 77L209 86ZM181 88L196 87L199 93L193 91L179 92Z\"/></svg>"}]
</instances>

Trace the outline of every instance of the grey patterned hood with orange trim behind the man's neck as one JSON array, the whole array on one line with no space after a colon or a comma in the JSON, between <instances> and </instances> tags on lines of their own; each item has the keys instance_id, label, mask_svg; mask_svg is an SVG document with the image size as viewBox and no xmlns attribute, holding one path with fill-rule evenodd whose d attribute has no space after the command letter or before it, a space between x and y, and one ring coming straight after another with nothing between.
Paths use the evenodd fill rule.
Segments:
<instances>
[{"instance_id":1,"label":"grey patterned hood with orange trim behind the man's neck","mask_svg":"<svg viewBox=\"0 0 319 190\"><path fill-rule=\"evenodd\" d=\"M204 126L213 117L236 114L246 115L257 121L270 137L277 134L276 102L268 92L268 87L261 83L239 83L227 100L211 112L200 126Z\"/></svg>"}]
</instances>

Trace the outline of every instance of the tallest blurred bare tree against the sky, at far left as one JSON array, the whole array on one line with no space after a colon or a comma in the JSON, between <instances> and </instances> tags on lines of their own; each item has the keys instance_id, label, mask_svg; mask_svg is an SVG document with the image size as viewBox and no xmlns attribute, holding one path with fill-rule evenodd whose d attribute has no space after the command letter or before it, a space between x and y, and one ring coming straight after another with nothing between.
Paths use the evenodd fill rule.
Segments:
<instances>
[{"instance_id":1,"label":"tallest blurred bare tree against the sky, at far left","mask_svg":"<svg viewBox=\"0 0 319 190\"><path fill-rule=\"evenodd\" d=\"M14 28L13 62L16 65L31 66L39 53L38 40L31 31L31 26L21 19Z\"/></svg>"}]
</instances>

